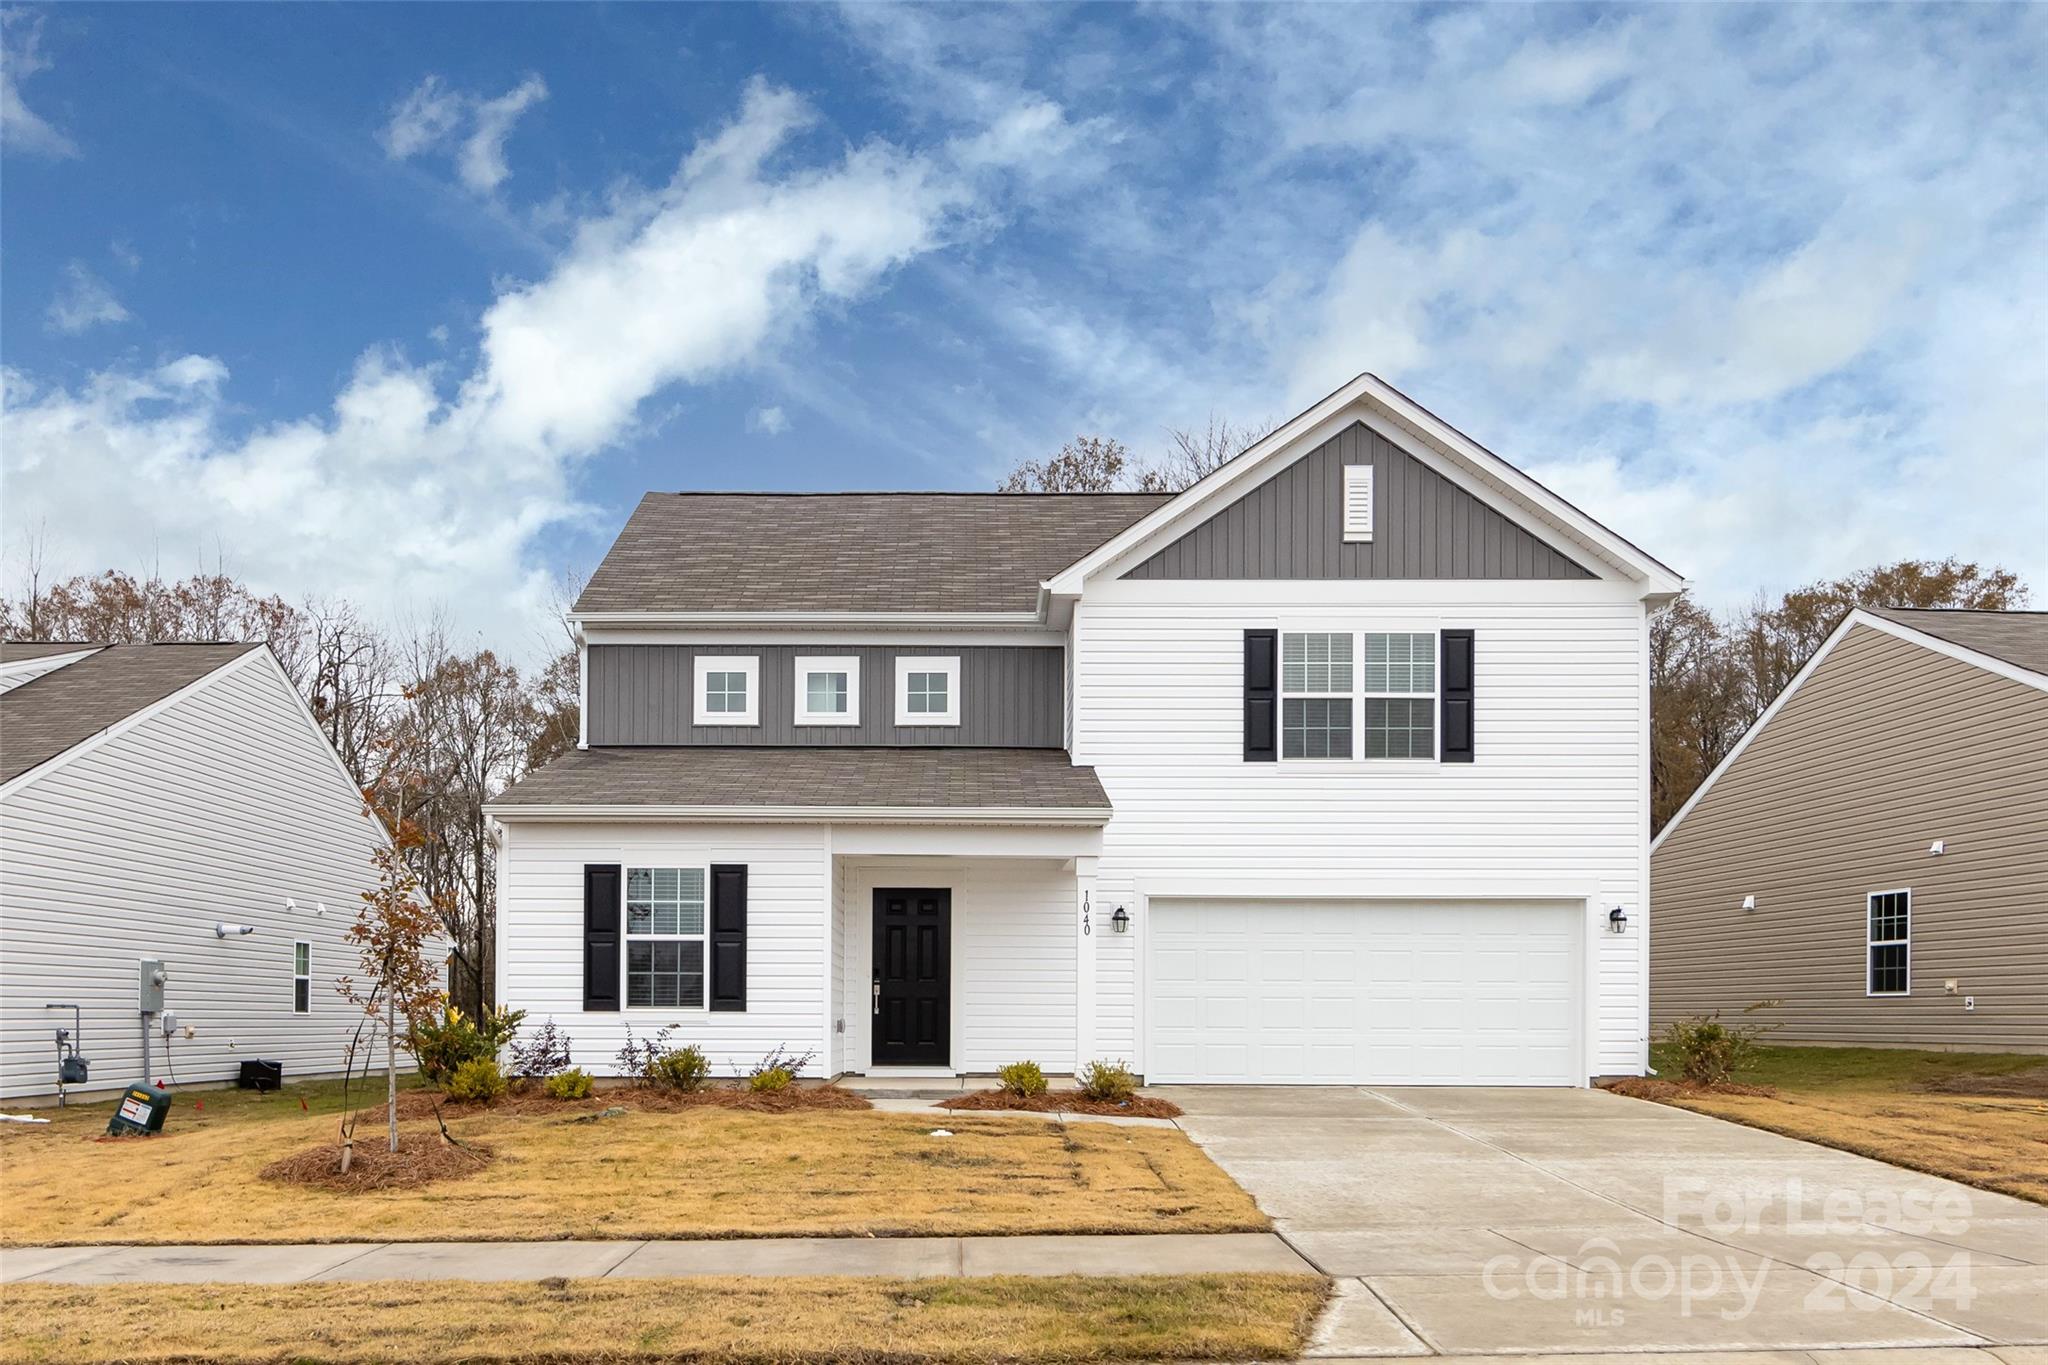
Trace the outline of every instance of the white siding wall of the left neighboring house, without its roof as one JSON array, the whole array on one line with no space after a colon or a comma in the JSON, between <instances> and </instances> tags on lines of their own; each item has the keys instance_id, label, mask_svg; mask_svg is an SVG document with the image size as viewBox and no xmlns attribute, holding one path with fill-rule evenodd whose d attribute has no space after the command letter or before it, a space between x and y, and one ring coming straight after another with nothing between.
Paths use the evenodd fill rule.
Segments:
<instances>
[{"instance_id":1,"label":"white siding wall of the left neighboring house, without its roof","mask_svg":"<svg viewBox=\"0 0 2048 1365\"><path fill-rule=\"evenodd\" d=\"M139 958L164 960L166 1005L193 1027L172 1044L180 1081L231 1078L246 1058L287 1081L342 1070L346 1019L319 1003L356 970L342 935L379 837L266 659L14 788L0 821L0 1093L55 1089L45 1001L84 1007L92 1089L141 1078ZM219 921L256 931L221 939ZM293 1011L301 939L309 1013Z\"/></svg>"}]
</instances>

